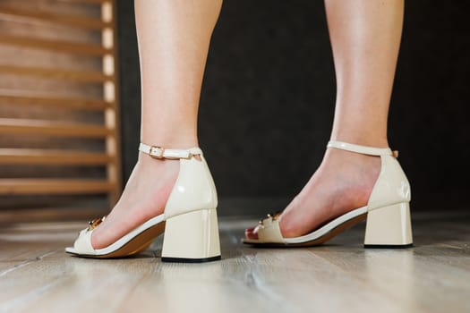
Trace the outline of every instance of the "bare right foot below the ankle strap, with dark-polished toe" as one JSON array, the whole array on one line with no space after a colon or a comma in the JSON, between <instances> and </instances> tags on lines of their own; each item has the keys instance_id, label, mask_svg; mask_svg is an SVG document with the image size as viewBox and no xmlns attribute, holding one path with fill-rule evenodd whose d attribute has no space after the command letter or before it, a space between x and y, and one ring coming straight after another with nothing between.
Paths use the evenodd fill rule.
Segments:
<instances>
[{"instance_id":1,"label":"bare right foot below the ankle strap, with dark-polished toe","mask_svg":"<svg viewBox=\"0 0 470 313\"><path fill-rule=\"evenodd\" d=\"M327 149L319 169L278 217L283 237L311 233L335 217L366 206L379 173L380 157ZM245 235L257 239L257 231L257 227L248 228Z\"/></svg>"}]
</instances>

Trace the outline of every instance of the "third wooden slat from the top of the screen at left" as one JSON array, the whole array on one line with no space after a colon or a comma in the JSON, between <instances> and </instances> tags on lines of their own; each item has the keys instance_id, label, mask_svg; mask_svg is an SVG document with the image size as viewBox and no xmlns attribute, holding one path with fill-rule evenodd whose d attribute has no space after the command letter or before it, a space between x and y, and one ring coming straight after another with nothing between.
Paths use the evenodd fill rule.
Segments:
<instances>
[{"instance_id":1,"label":"third wooden slat from the top of the screen at left","mask_svg":"<svg viewBox=\"0 0 470 313\"><path fill-rule=\"evenodd\" d=\"M70 70L58 70L58 69L46 69L46 68L34 68L34 67L23 67L16 65L0 65L0 72L13 75L30 75L38 76L47 79L56 80L76 80L81 82L105 82L107 80L113 80L112 75L105 75L102 72L90 72L90 71L70 71Z\"/></svg>"}]
</instances>

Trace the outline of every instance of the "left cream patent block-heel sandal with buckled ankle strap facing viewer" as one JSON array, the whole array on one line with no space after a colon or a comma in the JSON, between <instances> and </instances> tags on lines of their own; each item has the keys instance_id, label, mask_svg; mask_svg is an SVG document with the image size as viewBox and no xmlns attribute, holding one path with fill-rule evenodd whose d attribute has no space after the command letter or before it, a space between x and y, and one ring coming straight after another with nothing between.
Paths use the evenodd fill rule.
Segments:
<instances>
[{"instance_id":1,"label":"left cream patent block-heel sandal with buckled ankle strap facing viewer","mask_svg":"<svg viewBox=\"0 0 470 313\"><path fill-rule=\"evenodd\" d=\"M180 162L164 213L98 250L91 245L91 234L104 218L95 219L80 232L73 248L65 251L86 258L122 258L146 250L165 232L162 261L192 263L220 259L217 191L201 149L164 149L141 143L139 150L150 157Z\"/></svg>"}]
</instances>

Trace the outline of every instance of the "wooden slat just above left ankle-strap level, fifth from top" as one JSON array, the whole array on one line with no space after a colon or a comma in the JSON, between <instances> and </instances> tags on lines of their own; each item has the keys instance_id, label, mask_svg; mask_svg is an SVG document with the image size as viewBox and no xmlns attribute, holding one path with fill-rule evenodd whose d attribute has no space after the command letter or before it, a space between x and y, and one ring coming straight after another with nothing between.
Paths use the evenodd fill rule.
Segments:
<instances>
[{"instance_id":1,"label":"wooden slat just above left ankle-strap level, fifth from top","mask_svg":"<svg viewBox=\"0 0 470 313\"><path fill-rule=\"evenodd\" d=\"M61 124L47 121L0 118L0 133L48 135L54 137L105 138L112 130L102 126Z\"/></svg>"}]
</instances>

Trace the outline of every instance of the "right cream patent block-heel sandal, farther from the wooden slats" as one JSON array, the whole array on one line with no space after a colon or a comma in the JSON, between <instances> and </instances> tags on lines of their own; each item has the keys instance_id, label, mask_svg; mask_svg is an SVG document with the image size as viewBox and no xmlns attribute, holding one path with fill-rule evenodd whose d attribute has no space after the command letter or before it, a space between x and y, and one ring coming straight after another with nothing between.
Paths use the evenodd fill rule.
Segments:
<instances>
[{"instance_id":1,"label":"right cream patent block-heel sandal, farther from the wooden slats","mask_svg":"<svg viewBox=\"0 0 470 313\"><path fill-rule=\"evenodd\" d=\"M278 215L268 215L258 225L258 239L244 239L256 246L315 246L336 236L348 227L367 219L365 248L407 248L413 246L411 231L410 184L397 162L397 153L389 148L372 148L341 141L329 141L328 148L376 156L381 159L380 174L365 207L356 208L338 216L312 233L284 238L279 228Z\"/></svg>"}]
</instances>

